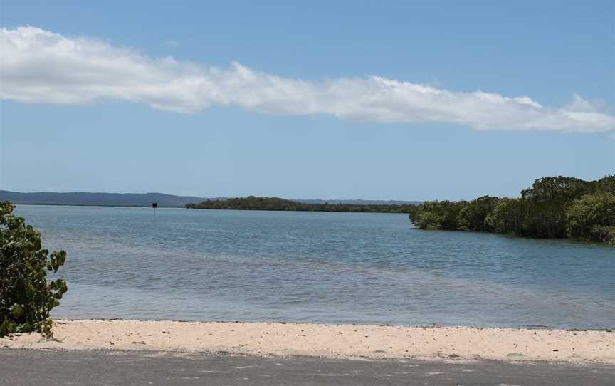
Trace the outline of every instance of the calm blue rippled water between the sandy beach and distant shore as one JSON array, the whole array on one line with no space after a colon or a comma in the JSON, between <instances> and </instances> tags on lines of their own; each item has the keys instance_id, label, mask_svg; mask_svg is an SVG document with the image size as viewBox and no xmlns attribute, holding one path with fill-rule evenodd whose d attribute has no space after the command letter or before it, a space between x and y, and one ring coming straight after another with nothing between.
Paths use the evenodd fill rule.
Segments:
<instances>
[{"instance_id":1,"label":"calm blue rippled water between the sandy beach and distant shore","mask_svg":"<svg viewBox=\"0 0 615 386\"><path fill-rule=\"evenodd\" d=\"M615 248L403 214L19 206L68 252L56 317L615 327Z\"/></svg>"}]
</instances>

